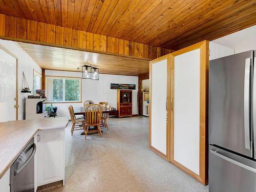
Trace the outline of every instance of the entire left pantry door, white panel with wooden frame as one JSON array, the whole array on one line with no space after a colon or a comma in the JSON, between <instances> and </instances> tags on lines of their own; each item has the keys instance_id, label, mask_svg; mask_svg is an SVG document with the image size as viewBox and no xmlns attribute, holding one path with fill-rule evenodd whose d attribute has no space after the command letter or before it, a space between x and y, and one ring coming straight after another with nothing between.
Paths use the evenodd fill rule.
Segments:
<instances>
[{"instance_id":1,"label":"entire left pantry door, white panel with wooden frame","mask_svg":"<svg viewBox=\"0 0 256 192\"><path fill-rule=\"evenodd\" d=\"M170 55L150 61L150 149L169 161Z\"/></svg>"}]
</instances>

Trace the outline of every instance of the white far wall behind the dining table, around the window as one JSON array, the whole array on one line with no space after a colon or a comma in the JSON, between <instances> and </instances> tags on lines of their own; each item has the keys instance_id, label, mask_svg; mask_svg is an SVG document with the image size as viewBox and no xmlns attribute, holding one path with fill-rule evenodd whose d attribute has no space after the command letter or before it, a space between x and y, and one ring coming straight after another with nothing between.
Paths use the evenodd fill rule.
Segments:
<instances>
[{"instance_id":1,"label":"white far wall behind the dining table, around the window","mask_svg":"<svg viewBox=\"0 0 256 192\"><path fill-rule=\"evenodd\" d=\"M54 71L46 70L46 76L68 76L81 77L80 72ZM107 75L100 74L99 80L82 79L82 102L92 100L95 103L107 101L111 106L116 108L117 90L110 89L110 83L136 84L136 90L133 90L133 115L138 114L138 77L125 75ZM58 107L58 117L66 116L70 119L68 106L82 106L83 103L53 103Z\"/></svg>"}]
</instances>

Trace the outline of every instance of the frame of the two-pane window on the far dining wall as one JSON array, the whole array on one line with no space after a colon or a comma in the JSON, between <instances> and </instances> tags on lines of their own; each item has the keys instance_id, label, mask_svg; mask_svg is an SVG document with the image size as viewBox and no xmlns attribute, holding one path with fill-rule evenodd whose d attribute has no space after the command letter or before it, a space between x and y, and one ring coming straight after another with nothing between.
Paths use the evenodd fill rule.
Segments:
<instances>
[{"instance_id":1,"label":"frame of the two-pane window on the far dining wall","mask_svg":"<svg viewBox=\"0 0 256 192\"><path fill-rule=\"evenodd\" d=\"M82 78L81 77L46 75L45 76L46 96L48 95L48 93L47 93L47 84L48 84L47 80L48 80L48 78L79 80L79 82L80 82L80 98L79 98L79 101L49 101L48 98L47 98L46 103L81 103L82 102ZM63 97L65 98L65 81L63 82Z\"/></svg>"}]
</instances>

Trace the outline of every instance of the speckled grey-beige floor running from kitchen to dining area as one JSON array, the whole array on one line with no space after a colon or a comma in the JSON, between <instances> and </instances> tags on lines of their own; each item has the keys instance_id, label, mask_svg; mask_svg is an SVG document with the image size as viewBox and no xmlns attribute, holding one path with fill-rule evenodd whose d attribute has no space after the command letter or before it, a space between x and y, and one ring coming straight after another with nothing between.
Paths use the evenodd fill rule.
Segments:
<instances>
[{"instance_id":1,"label":"speckled grey-beige floor running from kitchen to dining area","mask_svg":"<svg viewBox=\"0 0 256 192\"><path fill-rule=\"evenodd\" d=\"M84 140L66 130L66 185L40 191L208 191L148 149L148 118L110 119L110 130Z\"/></svg>"}]
</instances>

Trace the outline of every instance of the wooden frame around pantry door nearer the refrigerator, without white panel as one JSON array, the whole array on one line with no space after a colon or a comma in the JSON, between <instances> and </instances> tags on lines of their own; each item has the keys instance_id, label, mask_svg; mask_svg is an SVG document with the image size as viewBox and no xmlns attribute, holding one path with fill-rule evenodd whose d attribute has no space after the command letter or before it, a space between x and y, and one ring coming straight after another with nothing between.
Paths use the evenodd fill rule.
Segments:
<instances>
[{"instance_id":1,"label":"wooden frame around pantry door nearer the refrigerator, without white panel","mask_svg":"<svg viewBox=\"0 0 256 192\"><path fill-rule=\"evenodd\" d=\"M174 98L174 57L183 53L200 49L200 157L199 175L174 160L174 112L170 117L170 157L171 163L182 169L185 173L208 184L208 79L209 79L209 41L204 40L179 51L170 53L170 97ZM175 99L175 98L174 98ZM174 110L173 110L174 111Z\"/></svg>"}]
</instances>

